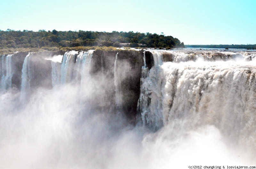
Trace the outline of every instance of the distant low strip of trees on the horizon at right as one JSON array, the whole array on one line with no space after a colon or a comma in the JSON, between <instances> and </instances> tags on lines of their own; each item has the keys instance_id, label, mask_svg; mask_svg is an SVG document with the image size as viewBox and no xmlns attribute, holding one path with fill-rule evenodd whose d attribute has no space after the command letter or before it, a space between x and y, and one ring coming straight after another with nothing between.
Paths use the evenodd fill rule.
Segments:
<instances>
[{"instance_id":1,"label":"distant low strip of trees on the horizon at right","mask_svg":"<svg viewBox=\"0 0 256 169\"><path fill-rule=\"evenodd\" d=\"M230 48L230 49L256 49L255 45L185 45L185 47L198 47L198 48Z\"/></svg>"}]
</instances>

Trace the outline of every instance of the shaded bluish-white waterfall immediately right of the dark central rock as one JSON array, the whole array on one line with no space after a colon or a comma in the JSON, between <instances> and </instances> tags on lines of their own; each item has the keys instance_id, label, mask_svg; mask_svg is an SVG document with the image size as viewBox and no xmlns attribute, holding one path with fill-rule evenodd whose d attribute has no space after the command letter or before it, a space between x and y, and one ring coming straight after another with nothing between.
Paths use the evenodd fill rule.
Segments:
<instances>
[{"instance_id":1,"label":"shaded bluish-white waterfall immediately right of the dark central rock","mask_svg":"<svg viewBox=\"0 0 256 169\"><path fill-rule=\"evenodd\" d=\"M145 57L145 53L143 54ZM163 64L163 55L159 52L152 52L154 58L154 66L148 71L146 61L141 71L141 87L138 109L144 125L150 126L153 130L163 126L161 91L158 90L162 85L161 65ZM143 59L144 60L144 59Z\"/></svg>"}]
</instances>

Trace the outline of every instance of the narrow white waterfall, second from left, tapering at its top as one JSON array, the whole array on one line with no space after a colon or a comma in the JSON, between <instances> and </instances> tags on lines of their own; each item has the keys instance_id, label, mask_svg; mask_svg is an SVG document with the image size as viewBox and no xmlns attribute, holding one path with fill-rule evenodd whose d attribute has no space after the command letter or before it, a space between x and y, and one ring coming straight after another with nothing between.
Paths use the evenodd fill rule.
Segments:
<instances>
[{"instance_id":1,"label":"narrow white waterfall, second from left, tapering at its top","mask_svg":"<svg viewBox=\"0 0 256 169\"><path fill-rule=\"evenodd\" d=\"M32 59L32 53L28 53L23 65L22 65L22 75L21 75L21 99L27 99L27 93L30 92L30 83L34 78L34 66Z\"/></svg>"}]
</instances>

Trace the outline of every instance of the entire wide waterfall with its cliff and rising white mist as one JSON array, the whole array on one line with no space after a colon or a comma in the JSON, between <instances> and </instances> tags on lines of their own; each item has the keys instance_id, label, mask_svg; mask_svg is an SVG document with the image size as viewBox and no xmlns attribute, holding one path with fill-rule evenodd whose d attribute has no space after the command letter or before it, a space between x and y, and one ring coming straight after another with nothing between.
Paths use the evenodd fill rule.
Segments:
<instances>
[{"instance_id":1,"label":"entire wide waterfall with its cliff and rising white mist","mask_svg":"<svg viewBox=\"0 0 256 169\"><path fill-rule=\"evenodd\" d=\"M0 55L0 168L256 165L255 56Z\"/></svg>"}]
</instances>

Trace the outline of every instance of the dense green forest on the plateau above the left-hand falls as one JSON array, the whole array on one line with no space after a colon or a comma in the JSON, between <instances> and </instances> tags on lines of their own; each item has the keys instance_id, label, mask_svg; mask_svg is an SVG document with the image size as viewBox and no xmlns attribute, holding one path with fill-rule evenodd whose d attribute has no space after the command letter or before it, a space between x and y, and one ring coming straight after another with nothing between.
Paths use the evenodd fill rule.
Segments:
<instances>
[{"instance_id":1,"label":"dense green forest on the plateau above the left-hand falls","mask_svg":"<svg viewBox=\"0 0 256 169\"><path fill-rule=\"evenodd\" d=\"M130 47L174 48L184 47L184 43L163 33L140 32L94 32L94 31L45 31L0 30L0 48L41 48L41 47L76 47L76 46L115 46L130 43Z\"/></svg>"}]
</instances>

